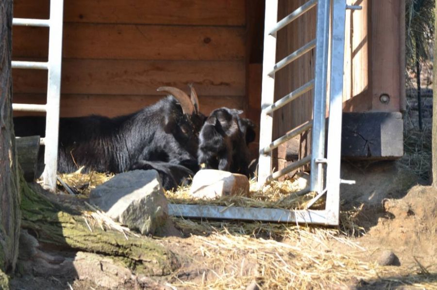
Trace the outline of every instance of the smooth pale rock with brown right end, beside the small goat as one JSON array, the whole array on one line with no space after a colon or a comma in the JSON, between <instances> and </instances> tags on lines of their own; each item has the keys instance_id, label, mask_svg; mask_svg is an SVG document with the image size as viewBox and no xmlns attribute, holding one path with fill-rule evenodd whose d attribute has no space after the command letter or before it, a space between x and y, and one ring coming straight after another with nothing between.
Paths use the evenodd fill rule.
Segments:
<instances>
[{"instance_id":1,"label":"smooth pale rock with brown right end, beside the small goat","mask_svg":"<svg viewBox=\"0 0 437 290\"><path fill-rule=\"evenodd\" d=\"M199 170L193 177L190 194L195 198L248 195L249 179L242 174L215 169Z\"/></svg>"}]
</instances>

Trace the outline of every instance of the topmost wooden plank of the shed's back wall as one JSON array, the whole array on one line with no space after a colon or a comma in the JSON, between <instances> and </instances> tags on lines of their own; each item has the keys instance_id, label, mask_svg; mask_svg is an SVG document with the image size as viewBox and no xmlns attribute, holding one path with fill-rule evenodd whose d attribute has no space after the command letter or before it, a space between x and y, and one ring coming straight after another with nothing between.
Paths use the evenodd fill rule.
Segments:
<instances>
[{"instance_id":1,"label":"topmost wooden plank of the shed's back wall","mask_svg":"<svg viewBox=\"0 0 437 290\"><path fill-rule=\"evenodd\" d=\"M49 0L15 0L14 17L48 18ZM65 0L64 21L243 26L244 0Z\"/></svg>"}]
</instances>

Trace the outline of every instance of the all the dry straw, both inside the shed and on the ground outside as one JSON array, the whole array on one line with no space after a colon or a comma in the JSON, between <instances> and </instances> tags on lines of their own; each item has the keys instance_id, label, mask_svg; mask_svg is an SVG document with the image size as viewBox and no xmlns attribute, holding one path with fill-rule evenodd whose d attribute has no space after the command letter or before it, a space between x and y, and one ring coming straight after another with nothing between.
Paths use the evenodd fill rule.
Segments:
<instances>
[{"instance_id":1,"label":"all the dry straw, both inside the shed and on the ground outside","mask_svg":"<svg viewBox=\"0 0 437 290\"><path fill-rule=\"evenodd\" d=\"M62 175L63 180L82 194L111 176L79 172ZM189 197L189 188L168 191L170 202L220 204L252 207L303 208L313 195L296 196L302 188L297 180L273 182L262 191L251 182L250 197L234 196L217 200ZM291 192L291 195L290 195ZM319 201L323 207L323 200ZM407 285L437 289L436 275L423 267L414 269L382 267L363 259L369 250L354 242L364 230L357 224L362 208L342 212L337 229L276 223L205 221L173 218L175 226L190 236L192 251L187 253L195 278L182 278L182 267L169 278L168 286L177 289L245 289L256 281L261 289L339 289L370 283ZM98 213L98 211L94 211ZM88 219L117 228L99 214ZM109 225L109 226L108 226ZM120 230L120 229L118 229ZM126 233L126 229L121 229ZM336 246L333 246L336 245ZM370 284L370 286L373 284ZM375 284L376 285L376 284ZM371 289L368 288L368 289Z\"/></svg>"}]
</instances>

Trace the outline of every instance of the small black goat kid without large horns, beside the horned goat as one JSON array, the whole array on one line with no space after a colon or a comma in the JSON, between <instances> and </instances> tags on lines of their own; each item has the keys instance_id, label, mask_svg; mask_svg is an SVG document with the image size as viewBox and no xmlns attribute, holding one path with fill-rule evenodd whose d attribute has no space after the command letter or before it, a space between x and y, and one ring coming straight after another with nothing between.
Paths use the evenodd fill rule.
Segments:
<instances>
[{"instance_id":1,"label":"small black goat kid without large horns, beside the horned goat","mask_svg":"<svg viewBox=\"0 0 437 290\"><path fill-rule=\"evenodd\" d=\"M255 126L239 116L242 112L226 107L211 112L199 134L199 165L249 177L247 145L255 139Z\"/></svg>"}]
</instances>

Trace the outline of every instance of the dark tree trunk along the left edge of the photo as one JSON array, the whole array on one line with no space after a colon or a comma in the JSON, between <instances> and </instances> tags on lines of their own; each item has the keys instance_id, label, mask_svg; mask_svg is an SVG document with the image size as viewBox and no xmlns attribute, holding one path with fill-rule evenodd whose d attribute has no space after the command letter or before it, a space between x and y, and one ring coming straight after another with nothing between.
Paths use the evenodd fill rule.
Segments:
<instances>
[{"instance_id":1,"label":"dark tree trunk along the left edge of the photo","mask_svg":"<svg viewBox=\"0 0 437 290\"><path fill-rule=\"evenodd\" d=\"M15 268L20 229L19 179L12 123L11 54L12 0L0 0L0 270L3 273L10 273ZM0 288L2 286L7 288L0 282Z\"/></svg>"}]
</instances>

